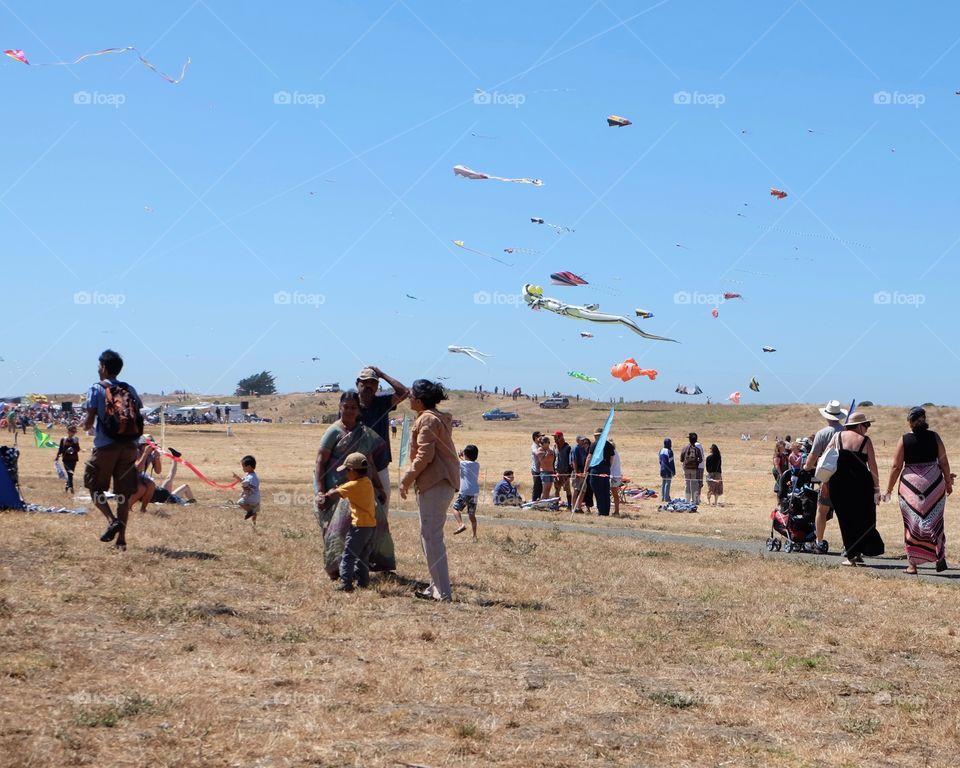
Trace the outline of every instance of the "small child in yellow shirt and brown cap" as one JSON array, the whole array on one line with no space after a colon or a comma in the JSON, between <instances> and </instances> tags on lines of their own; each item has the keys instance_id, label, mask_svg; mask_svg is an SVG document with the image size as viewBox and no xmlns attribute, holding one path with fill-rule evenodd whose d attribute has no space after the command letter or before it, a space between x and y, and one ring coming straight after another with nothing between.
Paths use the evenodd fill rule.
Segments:
<instances>
[{"instance_id":1,"label":"small child in yellow shirt and brown cap","mask_svg":"<svg viewBox=\"0 0 960 768\"><path fill-rule=\"evenodd\" d=\"M347 472L347 482L324 494L327 498L340 496L350 502L350 529L343 542L340 557L340 581L337 592L353 592L353 582L366 589L370 586L370 553L373 551L373 534L377 530L376 499L373 483L367 476L367 457L351 453L337 472Z\"/></svg>"}]
</instances>

